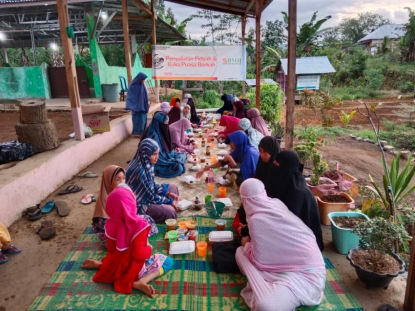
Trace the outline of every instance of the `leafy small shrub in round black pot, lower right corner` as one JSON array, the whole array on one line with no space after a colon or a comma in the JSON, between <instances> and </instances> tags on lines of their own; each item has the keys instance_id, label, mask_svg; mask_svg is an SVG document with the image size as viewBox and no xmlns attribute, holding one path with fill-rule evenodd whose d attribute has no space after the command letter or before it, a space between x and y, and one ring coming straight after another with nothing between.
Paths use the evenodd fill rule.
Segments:
<instances>
[{"instance_id":1,"label":"leafy small shrub in round black pot, lower right corner","mask_svg":"<svg viewBox=\"0 0 415 311\"><path fill-rule=\"evenodd\" d=\"M360 236L359 247L352 248L347 260L367 287L387 288L391 280L405 271L405 263L393 252L395 242L409 239L401 224L382 217L360 222L353 229Z\"/></svg>"}]
</instances>

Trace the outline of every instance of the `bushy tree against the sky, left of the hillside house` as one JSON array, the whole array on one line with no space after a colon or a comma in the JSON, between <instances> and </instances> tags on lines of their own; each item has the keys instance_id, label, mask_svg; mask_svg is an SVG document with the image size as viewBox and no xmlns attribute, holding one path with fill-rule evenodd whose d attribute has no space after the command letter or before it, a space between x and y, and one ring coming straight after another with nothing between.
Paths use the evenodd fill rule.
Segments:
<instances>
[{"instance_id":1,"label":"bushy tree against the sky, left of the hillside house","mask_svg":"<svg viewBox=\"0 0 415 311\"><path fill-rule=\"evenodd\" d=\"M356 43L376 28L390 24L391 21L380 14L372 12L358 13L357 17L345 17L336 27L340 39L346 43Z\"/></svg>"}]
</instances>

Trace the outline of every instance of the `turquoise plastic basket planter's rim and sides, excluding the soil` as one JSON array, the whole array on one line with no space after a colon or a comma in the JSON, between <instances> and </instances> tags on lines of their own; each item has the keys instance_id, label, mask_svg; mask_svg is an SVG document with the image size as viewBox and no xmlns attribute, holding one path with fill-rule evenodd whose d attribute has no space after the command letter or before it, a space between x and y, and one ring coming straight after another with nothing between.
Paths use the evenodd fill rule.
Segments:
<instances>
[{"instance_id":1,"label":"turquoise plastic basket planter's rim and sides, excluding the soil","mask_svg":"<svg viewBox=\"0 0 415 311\"><path fill-rule=\"evenodd\" d=\"M328 218L331 222L331 238L334 246L340 254L346 254L351 248L355 248L359 245L360 237L353 233L352 229L341 228L335 224L333 217L347 216L347 217L361 217L369 220L365 214L355 211L334 211L328 214Z\"/></svg>"}]
</instances>

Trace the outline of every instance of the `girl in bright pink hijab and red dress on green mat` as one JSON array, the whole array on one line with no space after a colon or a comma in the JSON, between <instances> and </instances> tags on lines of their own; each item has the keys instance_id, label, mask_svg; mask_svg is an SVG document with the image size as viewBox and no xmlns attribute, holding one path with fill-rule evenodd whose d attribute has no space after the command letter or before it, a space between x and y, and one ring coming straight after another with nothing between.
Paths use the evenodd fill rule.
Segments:
<instances>
[{"instance_id":1,"label":"girl in bright pink hijab and red dress on green mat","mask_svg":"<svg viewBox=\"0 0 415 311\"><path fill-rule=\"evenodd\" d=\"M106 212L108 251L102 260L86 259L82 268L98 268L93 281L112 283L117 292L131 293L135 288L152 297L155 290L148 282L170 270L173 260L159 253L151 256L150 225L137 215L130 189L115 188L108 195Z\"/></svg>"}]
</instances>

